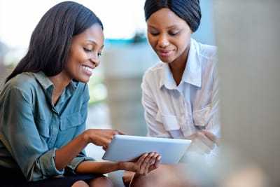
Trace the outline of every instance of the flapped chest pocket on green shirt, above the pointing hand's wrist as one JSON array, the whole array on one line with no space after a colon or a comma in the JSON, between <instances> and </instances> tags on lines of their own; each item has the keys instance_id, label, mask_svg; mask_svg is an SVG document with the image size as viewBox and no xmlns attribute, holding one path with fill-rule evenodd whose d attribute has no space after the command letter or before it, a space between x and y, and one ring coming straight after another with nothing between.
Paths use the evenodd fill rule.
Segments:
<instances>
[{"instance_id":1,"label":"flapped chest pocket on green shirt, above the pointing hand's wrist","mask_svg":"<svg viewBox=\"0 0 280 187\"><path fill-rule=\"evenodd\" d=\"M79 125L83 125L85 119L80 112L72 113L60 119L59 130L68 130Z\"/></svg>"}]
</instances>

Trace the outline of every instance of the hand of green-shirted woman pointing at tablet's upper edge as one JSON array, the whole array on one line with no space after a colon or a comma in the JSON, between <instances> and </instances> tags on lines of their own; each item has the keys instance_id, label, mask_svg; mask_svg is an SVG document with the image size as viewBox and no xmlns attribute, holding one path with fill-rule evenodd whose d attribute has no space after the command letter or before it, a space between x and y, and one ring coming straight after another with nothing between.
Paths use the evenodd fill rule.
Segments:
<instances>
[{"instance_id":1,"label":"hand of green-shirted woman pointing at tablet's upper edge","mask_svg":"<svg viewBox=\"0 0 280 187\"><path fill-rule=\"evenodd\" d=\"M92 143L97 146L102 146L104 150L108 148L108 145L111 143L113 137L116 134L124 134L119 130L110 130L110 129L88 129L85 130L85 139L87 143Z\"/></svg>"}]
</instances>

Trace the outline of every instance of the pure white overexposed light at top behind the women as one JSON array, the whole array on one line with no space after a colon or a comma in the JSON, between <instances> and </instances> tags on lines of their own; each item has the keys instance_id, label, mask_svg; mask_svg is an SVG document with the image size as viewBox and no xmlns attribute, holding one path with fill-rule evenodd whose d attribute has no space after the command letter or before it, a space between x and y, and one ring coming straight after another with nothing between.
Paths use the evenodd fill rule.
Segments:
<instances>
[{"instance_id":1,"label":"pure white overexposed light at top behind the women","mask_svg":"<svg viewBox=\"0 0 280 187\"><path fill-rule=\"evenodd\" d=\"M0 0L0 40L11 48L27 48L43 14L62 1ZM104 24L106 38L131 39L137 31L146 30L144 0L74 1L96 13Z\"/></svg>"}]
</instances>

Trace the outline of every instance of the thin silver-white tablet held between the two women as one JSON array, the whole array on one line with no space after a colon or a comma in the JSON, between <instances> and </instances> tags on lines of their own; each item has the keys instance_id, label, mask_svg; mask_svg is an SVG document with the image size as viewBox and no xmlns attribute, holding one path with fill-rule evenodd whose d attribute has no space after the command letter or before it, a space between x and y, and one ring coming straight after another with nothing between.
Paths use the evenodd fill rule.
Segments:
<instances>
[{"instance_id":1,"label":"thin silver-white tablet held between the two women","mask_svg":"<svg viewBox=\"0 0 280 187\"><path fill-rule=\"evenodd\" d=\"M162 164L176 164L190 146L187 139L137 137L116 134L104 153L103 160L124 162L144 153L159 153Z\"/></svg>"}]
</instances>

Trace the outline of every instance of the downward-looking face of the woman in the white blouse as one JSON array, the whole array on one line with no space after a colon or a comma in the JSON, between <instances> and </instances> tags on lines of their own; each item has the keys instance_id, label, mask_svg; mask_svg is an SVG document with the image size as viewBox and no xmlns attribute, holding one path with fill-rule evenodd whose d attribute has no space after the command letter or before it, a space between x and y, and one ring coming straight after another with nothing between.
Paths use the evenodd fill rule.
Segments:
<instances>
[{"instance_id":1,"label":"downward-looking face of the woman in the white blouse","mask_svg":"<svg viewBox=\"0 0 280 187\"><path fill-rule=\"evenodd\" d=\"M192 31L185 20L162 8L148 18L147 25L148 41L162 62L186 62Z\"/></svg>"}]
</instances>

